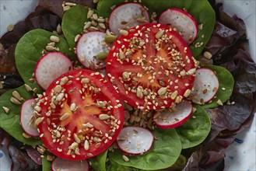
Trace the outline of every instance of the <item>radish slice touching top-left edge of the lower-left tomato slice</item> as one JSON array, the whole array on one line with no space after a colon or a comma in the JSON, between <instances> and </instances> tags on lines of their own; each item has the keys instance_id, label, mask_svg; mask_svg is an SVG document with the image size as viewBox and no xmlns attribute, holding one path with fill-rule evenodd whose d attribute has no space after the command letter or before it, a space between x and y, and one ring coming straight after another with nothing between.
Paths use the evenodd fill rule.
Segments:
<instances>
[{"instance_id":1,"label":"radish slice touching top-left edge of the lower-left tomato slice","mask_svg":"<svg viewBox=\"0 0 256 171\"><path fill-rule=\"evenodd\" d=\"M35 79L42 89L47 87L62 74L72 70L73 64L70 59L60 52L45 54L37 61Z\"/></svg>"}]
</instances>

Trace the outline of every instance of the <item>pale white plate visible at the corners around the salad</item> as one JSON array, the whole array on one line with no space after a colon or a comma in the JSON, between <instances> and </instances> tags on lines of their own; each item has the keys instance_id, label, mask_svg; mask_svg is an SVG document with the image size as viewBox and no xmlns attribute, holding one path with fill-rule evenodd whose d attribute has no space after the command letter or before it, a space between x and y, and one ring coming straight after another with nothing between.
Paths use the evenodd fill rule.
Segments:
<instances>
[{"instance_id":1,"label":"pale white plate visible at the corners around the salad","mask_svg":"<svg viewBox=\"0 0 256 171\"><path fill-rule=\"evenodd\" d=\"M244 19L247 26L247 37L250 41L249 51L256 61L255 57L255 22L256 22L256 1L255 0L218 0L224 2L224 11L230 15L237 14L238 17ZM9 24L16 24L24 19L36 7L38 0L0 0L0 35L7 31ZM243 143L234 142L225 150L225 170L256 170L256 123L251 127L238 134ZM9 155L5 155L6 150L0 149L0 171L10 170Z\"/></svg>"}]
</instances>

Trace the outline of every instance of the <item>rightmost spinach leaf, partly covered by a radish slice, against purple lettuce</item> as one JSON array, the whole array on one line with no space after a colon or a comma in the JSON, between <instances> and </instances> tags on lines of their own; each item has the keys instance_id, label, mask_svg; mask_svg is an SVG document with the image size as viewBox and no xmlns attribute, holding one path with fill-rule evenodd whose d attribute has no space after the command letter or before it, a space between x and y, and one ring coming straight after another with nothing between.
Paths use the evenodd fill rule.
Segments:
<instances>
[{"instance_id":1,"label":"rightmost spinach leaf, partly covered by a radish slice, against purple lettuce","mask_svg":"<svg viewBox=\"0 0 256 171\"><path fill-rule=\"evenodd\" d=\"M230 96L233 92L234 79L233 75L231 75L231 73L226 70L226 68L216 65L205 65L205 67L210 68L212 71L216 72L219 80L219 90L216 92L216 98L212 99L211 103L205 104L202 107L214 108L219 106L219 104L217 104L218 99L220 99L222 103L225 103L228 99L230 99ZM222 88L224 88L224 90Z\"/></svg>"}]
</instances>

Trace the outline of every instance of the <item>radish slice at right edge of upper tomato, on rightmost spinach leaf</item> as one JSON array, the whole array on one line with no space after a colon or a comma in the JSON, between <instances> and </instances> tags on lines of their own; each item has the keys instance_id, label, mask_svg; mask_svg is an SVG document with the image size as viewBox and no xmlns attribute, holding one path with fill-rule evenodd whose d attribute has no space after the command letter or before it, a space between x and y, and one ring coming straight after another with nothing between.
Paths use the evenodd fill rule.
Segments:
<instances>
[{"instance_id":1,"label":"radish slice at right edge of upper tomato, on rightmost spinach leaf","mask_svg":"<svg viewBox=\"0 0 256 171\"><path fill-rule=\"evenodd\" d=\"M208 103L219 89L219 80L209 68L199 68L195 72L194 90L189 99L194 103Z\"/></svg>"}]
</instances>

